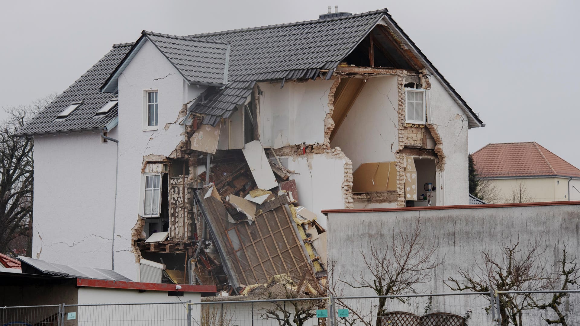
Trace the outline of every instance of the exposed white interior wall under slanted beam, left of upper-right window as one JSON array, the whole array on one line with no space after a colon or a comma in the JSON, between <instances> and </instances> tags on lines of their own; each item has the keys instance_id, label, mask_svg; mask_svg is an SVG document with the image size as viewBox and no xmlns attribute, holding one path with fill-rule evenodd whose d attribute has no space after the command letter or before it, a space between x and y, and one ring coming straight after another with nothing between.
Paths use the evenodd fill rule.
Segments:
<instances>
[{"instance_id":1,"label":"exposed white interior wall under slanted beam, left of upper-right window","mask_svg":"<svg viewBox=\"0 0 580 326\"><path fill-rule=\"evenodd\" d=\"M397 76L368 78L349 113L331 141L353 161L396 161L398 149Z\"/></svg>"}]
</instances>

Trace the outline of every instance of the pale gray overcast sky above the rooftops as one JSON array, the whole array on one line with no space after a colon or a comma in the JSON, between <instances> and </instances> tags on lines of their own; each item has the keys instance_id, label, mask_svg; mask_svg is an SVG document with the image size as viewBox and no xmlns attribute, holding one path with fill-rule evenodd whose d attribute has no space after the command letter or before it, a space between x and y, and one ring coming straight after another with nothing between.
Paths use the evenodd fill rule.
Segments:
<instances>
[{"instance_id":1,"label":"pale gray overcast sky above the rooftops","mask_svg":"<svg viewBox=\"0 0 580 326\"><path fill-rule=\"evenodd\" d=\"M389 9L480 113L486 126L470 129L470 152L535 141L580 168L580 1L572 0L5 1L0 106L62 92L112 44L136 41L142 30L187 35L288 23L334 5Z\"/></svg>"}]
</instances>

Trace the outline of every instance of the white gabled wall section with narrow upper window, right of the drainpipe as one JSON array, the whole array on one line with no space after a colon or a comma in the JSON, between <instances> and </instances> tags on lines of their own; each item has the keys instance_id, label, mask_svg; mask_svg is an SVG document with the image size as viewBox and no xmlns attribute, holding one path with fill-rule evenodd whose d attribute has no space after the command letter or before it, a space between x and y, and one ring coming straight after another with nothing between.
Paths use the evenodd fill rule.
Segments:
<instances>
[{"instance_id":1,"label":"white gabled wall section with narrow upper window, right of the drainpipe","mask_svg":"<svg viewBox=\"0 0 580 326\"><path fill-rule=\"evenodd\" d=\"M184 126L179 124L183 104L204 89L187 85L151 42L143 45L119 78L119 125L122 127L118 136L115 270L129 278L136 278L137 255L132 248L131 229L143 211L144 157L148 155L152 161L162 161L172 155L185 139ZM144 128L146 90L158 91L156 130Z\"/></svg>"}]
</instances>

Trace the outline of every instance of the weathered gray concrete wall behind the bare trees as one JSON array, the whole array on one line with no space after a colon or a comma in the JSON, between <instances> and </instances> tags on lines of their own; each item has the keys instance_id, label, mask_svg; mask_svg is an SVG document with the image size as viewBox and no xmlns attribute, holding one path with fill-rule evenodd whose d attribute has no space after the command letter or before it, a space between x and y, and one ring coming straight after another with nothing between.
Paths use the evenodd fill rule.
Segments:
<instances>
[{"instance_id":1,"label":"weathered gray concrete wall behind the bare trees","mask_svg":"<svg viewBox=\"0 0 580 326\"><path fill-rule=\"evenodd\" d=\"M524 248L538 238L547 247L543 258L548 260L549 268L559 259L564 245L571 256L577 255L580 248L579 218L579 204L328 213L328 259L329 262L336 260L332 271L334 277L353 281L362 275L372 280L369 271L365 270L360 251L368 252L371 241L390 242L393 234L411 229L420 219L422 234L434 242L438 257L445 262L436 268L429 282L418 288L426 294L452 292L443 280L449 276L461 278L458 270L477 268L476 262L483 262L483 251L499 253L503 244L516 242L518 238ZM344 295L374 293L346 286ZM575 296L575 300L578 299L580 295ZM392 309L422 315L426 302L416 301L415 307L393 305ZM434 298L431 311L463 315L467 309L472 309L483 322L487 318L482 314L485 304L481 299L467 296Z\"/></svg>"}]
</instances>

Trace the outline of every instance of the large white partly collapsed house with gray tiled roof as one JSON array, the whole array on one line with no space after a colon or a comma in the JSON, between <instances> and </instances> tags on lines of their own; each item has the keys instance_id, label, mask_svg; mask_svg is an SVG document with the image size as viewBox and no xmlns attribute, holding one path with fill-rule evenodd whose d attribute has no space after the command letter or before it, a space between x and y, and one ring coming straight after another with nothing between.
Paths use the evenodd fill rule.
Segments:
<instances>
[{"instance_id":1,"label":"large white partly collapsed house with gray tiled roof","mask_svg":"<svg viewBox=\"0 0 580 326\"><path fill-rule=\"evenodd\" d=\"M194 282L201 272L183 266L192 256L193 264L203 254L195 268L208 269L230 266L220 260L229 256L224 245L244 256L232 237L245 234L230 234L227 224L240 221L238 211L256 220L275 212L244 198L232 204L231 195L287 191L289 202L277 202L284 212L298 202L314 214L278 226L303 240L316 229L322 242L321 209L467 204L467 131L480 126L386 9L197 35L143 31L114 45L18 132L34 136L32 256L132 279L147 256ZM210 182L217 194L202 188ZM204 206L213 197L225 244L203 222L215 222ZM266 254L255 240L270 235L259 227L250 241L262 257L255 261L284 273L260 255L279 259L295 242L270 230L284 247ZM143 242L152 235L157 241ZM318 272L314 260L325 261L309 245L296 248ZM252 280L268 277L238 267L250 268Z\"/></svg>"}]
</instances>

